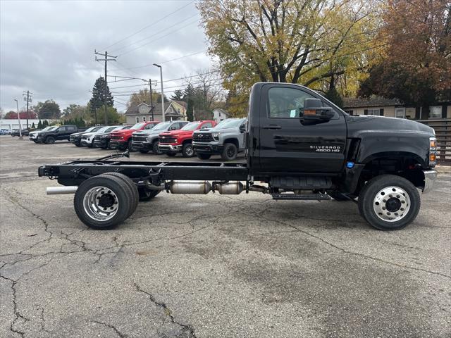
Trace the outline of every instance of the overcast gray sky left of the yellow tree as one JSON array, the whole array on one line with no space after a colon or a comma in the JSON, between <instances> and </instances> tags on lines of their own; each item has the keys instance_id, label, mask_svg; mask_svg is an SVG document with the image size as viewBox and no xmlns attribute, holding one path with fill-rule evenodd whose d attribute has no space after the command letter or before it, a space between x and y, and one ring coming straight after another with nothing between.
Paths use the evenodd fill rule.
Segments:
<instances>
[{"instance_id":1,"label":"overcast gray sky left of the yellow tree","mask_svg":"<svg viewBox=\"0 0 451 338\"><path fill-rule=\"evenodd\" d=\"M190 0L0 0L0 107L16 110L13 100L19 99L22 108L27 89L34 93L33 104L54 99L61 111L69 104L87 104L95 80L104 76L104 63L94 61L94 49L118 56L118 62L109 62L109 75L159 80L159 68L152 63L161 63L164 82L211 67L206 47L199 13ZM175 58L180 59L171 61ZM135 68L142 65L149 66ZM182 84L163 83L168 96ZM128 93L140 88L111 89L116 108L123 111L119 101L125 103Z\"/></svg>"}]
</instances>

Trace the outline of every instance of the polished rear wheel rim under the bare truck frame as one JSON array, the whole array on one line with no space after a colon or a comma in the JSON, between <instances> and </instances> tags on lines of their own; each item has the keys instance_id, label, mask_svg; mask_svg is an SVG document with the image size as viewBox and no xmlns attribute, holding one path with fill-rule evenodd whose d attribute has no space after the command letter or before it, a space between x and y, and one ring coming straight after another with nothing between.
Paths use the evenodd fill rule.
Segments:
<instances>
[{"instance_id":1,"label":"polished rear wheel rim under the bare truck frame","mask_svg":"<svg viewBox=\"0 0 451 338\"><path fill-rule=\"evenodd\" d=\"M83 197L85 212L93 220L106 221L118 212L118 196L107 187L94 187Z\"/></svg>"}]
</instances>

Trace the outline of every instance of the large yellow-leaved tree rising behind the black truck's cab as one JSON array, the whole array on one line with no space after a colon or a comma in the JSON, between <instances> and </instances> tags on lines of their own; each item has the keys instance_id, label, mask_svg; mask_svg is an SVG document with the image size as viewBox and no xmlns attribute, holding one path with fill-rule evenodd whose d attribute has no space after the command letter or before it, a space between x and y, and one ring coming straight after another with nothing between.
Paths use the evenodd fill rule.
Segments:
<instances>
[{"instance_id":1,"label":"large yellow-leaved tree rising behind the black truck's cab","mask_svg":"<svg viewBox=\"0 0 451 338\"><path fill-rule=\"evenodd\" d=\"M323 92L354 81L378 46L376 1L203 0L197 7L219 58L224 87L242 110L258 81L304 84Z\"/></svg>"}]
</instances>

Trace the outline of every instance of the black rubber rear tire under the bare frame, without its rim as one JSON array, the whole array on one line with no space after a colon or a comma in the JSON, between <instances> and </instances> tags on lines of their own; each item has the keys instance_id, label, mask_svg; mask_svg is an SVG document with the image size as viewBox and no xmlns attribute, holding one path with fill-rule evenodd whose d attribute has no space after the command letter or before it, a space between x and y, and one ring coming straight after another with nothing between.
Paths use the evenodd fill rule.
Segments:
<instances>
[{"instance_id":1,"label":"black rubber rear tire under the bare frame, without its rim","mask_svg":"<svg viewBox=\"0 0 451 338\"><path fill-rule=\"evenodd\" d=\"M104 186L108 187L118 196L119 208L116 215L113 218L106 221L93 220L85 213L85 208L83 206L83 198L86 192L92 187ZM82 184L78 186L77 191L73 199L73 204L75 208L75 213L77 213L78 218L85 223L88 227L95 230L110 230L116 227L118 224L122 223L128 218L130 214L130 209L132 208L132 203L130 201L130 190L128 184L126 184L121 178L113 175L97 175L90 177Z\"/></svg>"}]
</instances>

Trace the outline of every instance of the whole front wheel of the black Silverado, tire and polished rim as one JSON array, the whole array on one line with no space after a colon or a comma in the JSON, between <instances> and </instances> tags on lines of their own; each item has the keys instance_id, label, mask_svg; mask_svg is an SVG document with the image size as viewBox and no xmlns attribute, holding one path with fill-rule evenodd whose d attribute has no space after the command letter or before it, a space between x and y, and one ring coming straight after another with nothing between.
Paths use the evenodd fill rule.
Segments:
<instances>
[{"instance_id":1,"label":"whole front wheel of the black Silverado, tire and polished rim","mask_svg":"<svg viewBox=\"0 0 451 338\"><path fill-rule=\"evenodd\" d=\"M378 230L400 230L420 210L418 190L404 177L380 175L369 180L359 194L359 212Z\"/></svg>"}]
</instances>

